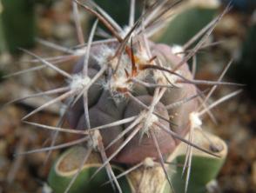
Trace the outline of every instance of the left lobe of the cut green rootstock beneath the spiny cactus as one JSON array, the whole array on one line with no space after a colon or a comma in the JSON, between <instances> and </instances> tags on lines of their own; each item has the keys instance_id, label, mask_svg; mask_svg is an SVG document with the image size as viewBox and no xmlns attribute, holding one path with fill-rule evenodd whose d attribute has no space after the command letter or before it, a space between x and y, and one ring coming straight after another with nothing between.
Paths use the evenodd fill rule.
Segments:
<instances>
[{"instance_id":1,"label":"left lobe of the cut green rootstock beneath the spiny cactus","mask_svg":"<svg viewBox=\"0 0 256 193\"><path fill-rule=\"evenodd\" d=\"M48 181L51 185L51 189L55 193L63 193L71 182L72 176L77 173L77 170L83 162L83 157L86 154L86 148L82 146L72 147L70 150L66 150L62 156L59 156L57 162L52 166ZM98 173L93 179L91 175L100 167L100 157L97 154L91 154L84 164L81 172L77 176L76 182L73 183L70 193L81 192L112 192L111 183L105 184L108 181L107 173L103 170ZM122 170L116 166L112 166L115 174L118 175ZM122 187L122 190L126 193L131 191L131 182L124 176L121 177L118 182Z\"/></svg>"}]
</instances>

